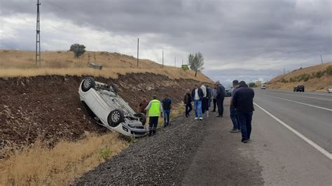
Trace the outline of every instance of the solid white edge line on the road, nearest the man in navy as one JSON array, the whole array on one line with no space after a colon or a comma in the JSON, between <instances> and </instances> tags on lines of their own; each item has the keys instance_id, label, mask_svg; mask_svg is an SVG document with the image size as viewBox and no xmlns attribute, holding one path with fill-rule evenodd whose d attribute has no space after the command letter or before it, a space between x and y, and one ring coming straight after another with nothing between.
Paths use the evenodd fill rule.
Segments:
<instances>
[{"instance_id":1,"label":"solid white edge line on the road, nearest the man in navy","mask_svg":"<svg viewBox=\"0 0 332 186\"><path fill-rule=\"evenodd\" d=\"M316 143L314 143L313 141L311 141L309 138L303 136L303 134L300 134L300 132L296 131L296 129L293 129L292 127L290 127L288 124L286 124L285 122L283 122L282 120L279 120L278 117L275 117L275 115L272 115L271 113L268 112L268 110L265 110L264 108L262 108L261 106L258 106L257 103L254 103L255 106L257 106L258 108L261 108L261 110L263 110L265 113L267 113L268 115L270 115L270 117L272 117L273 119L275 119L277 122L279 122L280 124L282 124L284 127L286 127L287 129L289 129L290 131L292 131L294 134L296 134L296 136L302 138L305 142L307 142L309 145L312 145L312 147L314 147L315 149L317 149L319 152L321 152L321 154L325 155L326 157L328 157L329 159L332 159L332 154L330 152L328 152L327 150L325 150L324 148L321 148L321 146L317 145Z\"/></svg>"}]
</instances>

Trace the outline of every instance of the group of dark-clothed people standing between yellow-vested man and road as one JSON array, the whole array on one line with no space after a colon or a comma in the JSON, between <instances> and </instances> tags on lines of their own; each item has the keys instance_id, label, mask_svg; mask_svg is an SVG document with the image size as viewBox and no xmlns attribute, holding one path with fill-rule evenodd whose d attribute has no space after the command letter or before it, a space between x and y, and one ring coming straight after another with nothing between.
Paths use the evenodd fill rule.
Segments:
<instances>
[{"instance_id":1,"label":"group of dark-clothed people standing between yellow-vested man and road","mask_svg":"<svg viewBox=\"0 0 332 186\"><path fill-rule=\"evenodd\" d=\"M254 111L254 90L248 87L244 81L233 80L233 87L231 90L230 99L230 119L233 122L232 133L241 132L243 143L250 140L251 135L251 120ZM192 103L195 110L195 120L203 120L202 114L206 113L209 117L209 107L213 101L213 110L216 112L218 108L218 115L216 117L223 117L223 100L225 99L225 87L219 81L214 83L214 88L211 90L208 85L196 85L193 90L186 90L184 96L184 104L186 106L186 117L190 116L192 110Z\"/></svg>"}]
</instances>

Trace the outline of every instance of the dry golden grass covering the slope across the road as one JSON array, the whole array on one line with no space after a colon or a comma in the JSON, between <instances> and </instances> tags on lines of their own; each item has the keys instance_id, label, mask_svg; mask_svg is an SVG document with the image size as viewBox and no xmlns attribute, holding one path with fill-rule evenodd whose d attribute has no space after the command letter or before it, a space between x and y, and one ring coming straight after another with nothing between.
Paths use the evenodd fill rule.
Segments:
<instances>
[{"instance_id":1,"label":"dry golden grass covering the slope across the road","mask_svg":"<svg viewBox=\"0 0 332 186\"><path fill-rule=\"evenodd\" d=\"M312 73L318 71L326 71L326 67L331 66L332 62L310 66L303 69L291 71L291 73L282 74L268 82L269 89L293 90L295 85L305 85L305 90L308 91L326 91L328 87L332 87L332 76L324 75L321 78L310 78L307 81L301 80L300 82L282 83L282 79L289 81L291 78L296 78L303 74L312 76Z\"/></svg>"}]
</instances>

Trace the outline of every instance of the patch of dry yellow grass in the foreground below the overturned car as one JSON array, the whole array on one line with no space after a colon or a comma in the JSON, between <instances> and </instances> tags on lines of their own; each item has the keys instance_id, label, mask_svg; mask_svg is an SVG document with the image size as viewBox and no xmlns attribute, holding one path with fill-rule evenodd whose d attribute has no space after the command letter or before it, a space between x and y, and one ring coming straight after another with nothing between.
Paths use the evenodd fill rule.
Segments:
<instances>
[{"instance_id":1,"label":"patch of dry yellow grass in the foreground below the overturned car","mask_svg":"<svg viewBox=\"0 0 332 186\"><path fill-rule=\"evenodd\" d=\"M35 143L33 148L0 162L0 185L69 185L127 145L114 133L87 134L81 141L62 141L53 149Z\"/></svg>"}]
</instances>

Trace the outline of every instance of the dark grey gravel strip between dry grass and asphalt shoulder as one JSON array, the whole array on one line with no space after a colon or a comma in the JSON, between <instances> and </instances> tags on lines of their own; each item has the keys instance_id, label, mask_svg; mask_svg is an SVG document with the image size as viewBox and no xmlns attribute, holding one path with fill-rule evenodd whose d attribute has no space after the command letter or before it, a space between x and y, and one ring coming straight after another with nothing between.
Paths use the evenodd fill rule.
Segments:
<instances>
[{"instance_id":1,"label":"dark grey gravel strip between dry grass and asphalt shoulder","mask_svg":"<svg viewBox=\"0 0 332 186\"><path fill-rule=\"evenodd\" d=\"M156 136L139 139L74 184L181 183L206 133L204 121L177 117L170 127L160 129Z\"/></svg>"}]
</instances>

